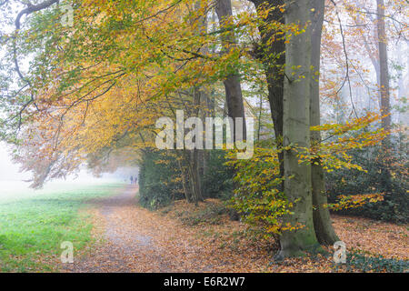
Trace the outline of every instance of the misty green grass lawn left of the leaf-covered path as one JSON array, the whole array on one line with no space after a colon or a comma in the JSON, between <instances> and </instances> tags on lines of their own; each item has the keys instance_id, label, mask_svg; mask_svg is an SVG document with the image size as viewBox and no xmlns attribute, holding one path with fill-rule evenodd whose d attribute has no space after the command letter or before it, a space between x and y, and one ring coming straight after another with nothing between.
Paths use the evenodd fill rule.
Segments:
<instances>
[{"instance_id":1,"label":"misty green grass lawn left of the leaf-covered path","mask_svg":"<svg viewBox=\"0 0 409 291\"><path fill-rule=\"evenodd\" d=\"M78 211L85 201L123 186L62 184L30 195L5 193L3 199L0 192L0 272L55 271L62 242L72 242L75 251L92 243L92 225Z\"/></svg>"}]
</instances>

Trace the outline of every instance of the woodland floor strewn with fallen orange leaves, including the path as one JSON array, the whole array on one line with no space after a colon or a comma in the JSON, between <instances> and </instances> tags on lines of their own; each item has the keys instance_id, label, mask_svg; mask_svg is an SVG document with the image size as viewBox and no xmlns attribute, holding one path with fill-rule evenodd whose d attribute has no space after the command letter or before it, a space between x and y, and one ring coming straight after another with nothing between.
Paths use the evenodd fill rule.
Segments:
<instances>
[{"instance_id":1,"label":"woodland floor strewn with fallen orange leaves, including the path","mask_svg":"<svg viewBox=\"0 0 409 291\"><path fill-rule=\"evenodd\" d=\"M274 263L274 243L245 232L244 224L214 216L221 202L198 207L177 201L158 211L136 203L137 187L89 201L97 243L75 254L63 272L334 272L332 256ZM193 215L192 215L193 214ZM205 221L205 223L201 223ZM348 250L408 259L408 226L334 216ZM333 252L332 249L328 249ZM338 268L337 271L342 271Z\"/></svg>"}]
</instances>

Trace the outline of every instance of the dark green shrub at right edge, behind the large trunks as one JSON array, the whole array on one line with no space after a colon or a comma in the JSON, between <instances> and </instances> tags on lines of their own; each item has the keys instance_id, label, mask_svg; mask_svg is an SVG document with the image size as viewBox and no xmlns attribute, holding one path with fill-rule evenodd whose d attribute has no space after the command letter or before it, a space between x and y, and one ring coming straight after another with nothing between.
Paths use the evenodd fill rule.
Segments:
<instances>
[{"instance_id":1,"label":"dark green shrub at right edge, behind the large trunks","mask_svg":"<svg viewBox=\"0 0 409 291\"><path fill-rule=\"evenodd\" d=\"M400 143L399 147L395 146L389 153L384 153L380 145L351 151L349 155L353 157L352 162L363 166L367 173L354 169L339 169L328 173L326 191L330 203L334 203L341 195L385 193L383 201L367 203L359 208L343 209L337 213L407 223L407 146L407 143ZM385 159L388 159L388 168L385 167ZM391 173L389 180L385 174L388 172Z\"/></svg>"}]
</instances>

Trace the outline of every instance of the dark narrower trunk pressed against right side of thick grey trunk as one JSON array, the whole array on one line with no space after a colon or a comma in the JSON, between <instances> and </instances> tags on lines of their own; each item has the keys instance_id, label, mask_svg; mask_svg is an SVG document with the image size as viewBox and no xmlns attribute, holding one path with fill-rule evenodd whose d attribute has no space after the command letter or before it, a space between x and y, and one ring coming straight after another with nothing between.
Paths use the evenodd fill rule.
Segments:
<instances>
[{"instance_id":1,"label":"dark narrower trunk pressed against right side of thick grey trunk","mask_svg":"<svg viewBox=\"0 0 409 291\"><path fill-rule=\"evenodd\" d=\"M320 46L324 21L324 0L311 0L311 3L314 8L314 12L312 12L311 15L311 65L314 66L314 69L310 78L310 123L311 126L316 126L320 125L320 88L319 75L315 75L314 73L320 72ZM311 146L319 146L320 143L321 132L311 132ZM334 245L339 238L336 236L334 227L331 223L329 210L324 207L324 205L327 204L327 197L325 194L324 169L320 160L314 161L311 165L311 181L315 236L321 245Z\"/></svg>"}]
</instances>

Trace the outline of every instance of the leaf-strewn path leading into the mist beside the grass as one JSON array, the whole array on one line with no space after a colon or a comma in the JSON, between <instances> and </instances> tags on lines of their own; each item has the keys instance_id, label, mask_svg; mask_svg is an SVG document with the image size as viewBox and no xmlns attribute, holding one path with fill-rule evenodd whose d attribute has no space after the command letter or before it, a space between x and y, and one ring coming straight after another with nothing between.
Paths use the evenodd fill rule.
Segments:
<instances>
[{"instance_id":1,"label":"leaf-strewn path leading into the mist beside the grass","mask_svg":"<svg viewBox=\"0 0 409 291\"><path fill-rule=\"evenodd\" d=\"M175 262L172 249L157 246L152 236L168 236L155 225L155 217L137 206L137 186L126 186L115 196L92 199L96 236L103 239L83 254L74 255L74 264L61 266L63 272L185 272L195 262ZM185 264L187 263L187 264ZM195 271L210 271L196 269Z\"/></svg>"}]
</instances>

